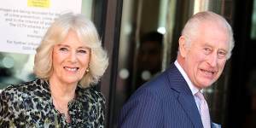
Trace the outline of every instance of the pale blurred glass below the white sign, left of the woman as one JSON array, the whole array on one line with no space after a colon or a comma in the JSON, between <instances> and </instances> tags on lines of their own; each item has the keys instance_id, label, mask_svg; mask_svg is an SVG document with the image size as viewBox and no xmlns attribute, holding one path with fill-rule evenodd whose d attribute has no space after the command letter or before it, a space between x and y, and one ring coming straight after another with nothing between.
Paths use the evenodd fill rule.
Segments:
<instances>
[{"instance_id":1,"label":"pale blurred glass below the white sign, left of the woman","mask_svg":"<svg viewBox=\"0 0 256 128\"><path fill-rule=\"evenodd\" d=\"M34 55L0 52L0 89L34 79Z\"/></svg>"}]
</instances>

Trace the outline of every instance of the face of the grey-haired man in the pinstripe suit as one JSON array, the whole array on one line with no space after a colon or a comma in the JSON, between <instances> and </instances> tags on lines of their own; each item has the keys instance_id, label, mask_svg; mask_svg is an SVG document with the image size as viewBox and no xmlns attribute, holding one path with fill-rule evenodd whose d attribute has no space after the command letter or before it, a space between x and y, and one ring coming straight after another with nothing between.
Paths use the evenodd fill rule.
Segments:
<instances>
[{"instance_id":1,"label":"face of the grey-haired man in the pinstripe suit","mask_svg":"<svg viewBox=\"0 0 256 128\"><path fill-rule=\"evenodd\" d=\"M189 47L183 49L183 68L191 82L203 89L215 82L223 72L229 51L225 28L214 23L201 25Z\"/></svg>"}]
</instances>

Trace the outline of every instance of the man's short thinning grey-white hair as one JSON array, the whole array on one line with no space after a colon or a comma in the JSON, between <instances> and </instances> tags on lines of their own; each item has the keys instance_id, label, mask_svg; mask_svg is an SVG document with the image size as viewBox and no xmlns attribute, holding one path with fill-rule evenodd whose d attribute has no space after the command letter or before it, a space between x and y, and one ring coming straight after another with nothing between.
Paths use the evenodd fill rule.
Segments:
<instances>
[{"instance_id":1,"label":"man's short thinning grey-white hair","mask_svg":"<svg viewBox=\"0 0 256 128\"><path fill-rule=\"evenodd\" d=\"M202 23L205 23L205 22L214 22L218 24L218 26L222 26L227 30L228 36L229 36L229 45L230 45L227 59L229 59L231 55L231 51L235 45L234 38L233 38L233 31L230 24L221 15L217 15L210 11L203 11L193 15L184 26L182 35L188 38L189 41L192 38L199 36L198 28L201 26ZM187 42L188 45L189 45L189 41Z\"/></svg>"}]
</instances>

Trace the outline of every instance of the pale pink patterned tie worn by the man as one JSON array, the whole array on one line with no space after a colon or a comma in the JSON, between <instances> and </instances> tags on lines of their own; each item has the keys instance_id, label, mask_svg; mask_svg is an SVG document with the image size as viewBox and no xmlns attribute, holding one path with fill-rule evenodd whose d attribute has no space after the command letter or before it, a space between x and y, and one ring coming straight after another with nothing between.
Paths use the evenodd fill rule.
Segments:
<instances>
[{"instance_id":1,"label":"pale pink patterned tie worn by the man","mask_svg":"<svg viewBox=\"0 0 256 128\"><path fill-rule=\"evenodd\" d=\"M211 128L210 114L207 101L205 97L201 94L201 91L198 91L195 94L195 96L197 96L200 99L200 113L202 124L204 125L204 128Z\"/></svg>"}]
</instances>

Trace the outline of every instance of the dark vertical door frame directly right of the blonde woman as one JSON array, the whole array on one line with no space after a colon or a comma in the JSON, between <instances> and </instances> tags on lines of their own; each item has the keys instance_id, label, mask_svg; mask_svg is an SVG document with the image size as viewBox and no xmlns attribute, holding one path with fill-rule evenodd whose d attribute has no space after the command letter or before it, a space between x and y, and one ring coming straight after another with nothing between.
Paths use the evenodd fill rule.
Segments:
<instances>
[{"instance_id":1,"label":"dark vertical door frame directly right of the blonde woman","mask_svg":"<svg viewBox=\"0 0 256 128\"><path fill-rule=\"evenodd\" d=\"M108 51L109 66L100 87L106 98L106 127L113 127L114 96L119 57L119 35L123 0L96 0L94 20L102 37L102 44ZM99 15L100 14L100 15Z\"/></svg>"}]
</instances>

